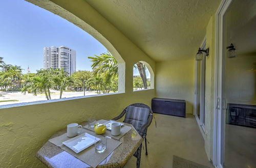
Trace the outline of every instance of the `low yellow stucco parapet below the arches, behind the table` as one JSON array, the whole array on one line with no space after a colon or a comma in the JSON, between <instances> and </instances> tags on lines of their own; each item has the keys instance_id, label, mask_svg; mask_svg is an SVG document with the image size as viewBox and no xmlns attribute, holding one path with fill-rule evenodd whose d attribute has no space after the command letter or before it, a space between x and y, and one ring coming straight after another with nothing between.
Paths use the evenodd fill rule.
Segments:
<instances>
[{"instance_id":1,"label":"low yellow stucco parapet below the arches, behind the table","mask_svg":"<svg viewBox=\"0 0 256 168\"><path fill-rule=\"evenodd\" d=\"M154 90L106 95L0 111L0 167L44 167L35 154L56 131L90 116L112 119L135 102L151 104Z\"/></svg>"}]
</instances>

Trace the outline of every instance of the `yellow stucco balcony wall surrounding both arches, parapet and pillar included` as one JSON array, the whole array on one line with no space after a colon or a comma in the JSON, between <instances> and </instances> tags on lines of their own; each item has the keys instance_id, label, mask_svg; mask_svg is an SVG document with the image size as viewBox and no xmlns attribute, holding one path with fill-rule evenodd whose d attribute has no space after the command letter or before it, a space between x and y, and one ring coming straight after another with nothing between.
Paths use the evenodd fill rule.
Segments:
<instances>
[{"instance_id":1,"label":"yellow stucco balcony wall surrounding both arches, parapet and pillar included","mask_svg":"<svg viewBox=\"0 0 256 168\"><path fill-rule=\"evenodd\" d=\"M52 8L50 1L30 2L51 8L59 15L67 14L61 13L60 7ZM86 21L115 47L125 61L125 93L0 109L0 167L44 167L35 157L36 152L54 132L68 123L79 123L90 116L111 119L131 103L151 106L151 99L155 97L154 89L133 92L133 65L145 61L155 71L152 59L85 1L52 2Z\"/></svg>"}]
</instances>

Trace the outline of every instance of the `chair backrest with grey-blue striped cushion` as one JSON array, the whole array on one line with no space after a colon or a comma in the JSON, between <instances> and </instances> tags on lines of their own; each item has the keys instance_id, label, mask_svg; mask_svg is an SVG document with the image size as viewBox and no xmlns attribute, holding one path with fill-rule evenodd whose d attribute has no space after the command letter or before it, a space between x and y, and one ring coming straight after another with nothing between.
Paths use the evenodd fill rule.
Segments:
<instances>
[{"instance_id":1,"label":"chair backrest with grey-blue striped cushion","mask_svg":"<svg viewBox=\"0 0 256 168\"><path fill-rule=\"evenodd\" d=\"M151 108L142 103L131 104L125 110L124 122L132 124L138 132L148 122L148 117L153 114Z\"/></svg>"}]
</instances>

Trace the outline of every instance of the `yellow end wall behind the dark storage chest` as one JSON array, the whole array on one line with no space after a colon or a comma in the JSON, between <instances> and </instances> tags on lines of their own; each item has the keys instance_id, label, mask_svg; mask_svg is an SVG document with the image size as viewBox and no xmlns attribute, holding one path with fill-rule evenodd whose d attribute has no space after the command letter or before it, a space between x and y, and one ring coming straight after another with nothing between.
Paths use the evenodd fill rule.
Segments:
<instances>
[{"instance_id":1,"label":"yellow end wall behind the dark storage chest","mask_svg":"<svg viewBox=\"0 0 256 168\"><path fill-rule=\"evenodd\" d=\"M186 100L186 113L193 114L195 60L156 63L156 96Z\"/></svg>"}]
</instances>

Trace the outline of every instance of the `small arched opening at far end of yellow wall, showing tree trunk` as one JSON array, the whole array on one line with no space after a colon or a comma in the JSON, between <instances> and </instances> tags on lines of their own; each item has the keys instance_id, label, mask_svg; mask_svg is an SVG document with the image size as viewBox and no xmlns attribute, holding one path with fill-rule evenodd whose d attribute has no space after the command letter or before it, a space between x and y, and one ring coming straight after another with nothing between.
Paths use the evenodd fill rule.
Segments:
<instances>
[{"instance_id":1,"label":"small arched opening at far end of yellow wall, showing tree trunk","mask_svg":"<svg viewBox=\"0 0 256 168\"><path fill-rule=\"evenodd\" d=\"M154 72L151 66L139 61L133 66L133 90L154 89Z\"/></svg>"}]
</instances>

